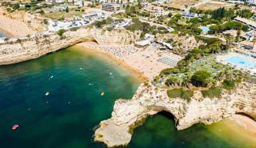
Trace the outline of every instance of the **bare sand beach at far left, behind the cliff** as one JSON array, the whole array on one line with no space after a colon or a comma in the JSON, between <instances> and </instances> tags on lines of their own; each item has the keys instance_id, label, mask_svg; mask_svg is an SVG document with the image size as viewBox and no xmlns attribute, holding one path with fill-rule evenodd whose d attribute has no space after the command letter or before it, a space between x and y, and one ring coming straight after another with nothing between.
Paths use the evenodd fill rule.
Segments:
<instances>
[{"instance_id":1,"label":"bare sand beach at far left, behind the cliff","mask_svg":"<svg viewBox=\"0 0 256 148\"><path fill-rule=\"evenodd\" d=\"M0 10L0 31L3 31L10 36L27 36L33 34L34 31L26 26L23 22L13 20L3 16L3 11Z\"/></svg>"}]
</instances>

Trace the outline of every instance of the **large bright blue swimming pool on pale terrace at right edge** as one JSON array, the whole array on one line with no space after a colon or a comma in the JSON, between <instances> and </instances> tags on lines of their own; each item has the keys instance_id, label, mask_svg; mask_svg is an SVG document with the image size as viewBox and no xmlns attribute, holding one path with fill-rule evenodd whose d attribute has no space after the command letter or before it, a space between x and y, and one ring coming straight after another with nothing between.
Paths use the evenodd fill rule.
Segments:
<instances>
[{"instance_id":1,"label":"large bright blue swimming pool on pale terrace at right edge","mask_svg":"<svg viewBox=\"0 0 256 148\"><path fill-rule=\"evenodd\" d=\"M244 68L256 68L256 62L246 60L243 57L239 57L239 56L226 57L224 61L233 63L235 65L238 65Z\"/></svg>"}]
</instances>

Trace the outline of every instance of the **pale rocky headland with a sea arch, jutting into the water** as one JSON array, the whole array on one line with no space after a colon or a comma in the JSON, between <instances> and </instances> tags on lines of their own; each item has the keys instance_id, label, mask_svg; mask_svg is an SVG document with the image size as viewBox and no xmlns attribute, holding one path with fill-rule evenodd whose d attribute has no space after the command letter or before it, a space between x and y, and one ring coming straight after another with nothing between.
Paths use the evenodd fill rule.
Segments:
<instances>
[{"instance_id":1,"label":"pale rocky headland with a sea arch, jutting into the water","mask_svg":"<svg viewBox=\"0 0 256 148\"><path fill-rule=\"evenodd\" d=\"M141 85L131 100L116 100L111 118L100 122L94 140L108 147L127 145L133 128L147 116L162 110L174 116L179 130L198 123L212 124L237 113L256 118L255 82L242 83L235 92L222 94L222 98L202 99L200 96L200 91L196 91L187 102L181 98L168 98L166 89Z\"/></svg>"}]
</instances>

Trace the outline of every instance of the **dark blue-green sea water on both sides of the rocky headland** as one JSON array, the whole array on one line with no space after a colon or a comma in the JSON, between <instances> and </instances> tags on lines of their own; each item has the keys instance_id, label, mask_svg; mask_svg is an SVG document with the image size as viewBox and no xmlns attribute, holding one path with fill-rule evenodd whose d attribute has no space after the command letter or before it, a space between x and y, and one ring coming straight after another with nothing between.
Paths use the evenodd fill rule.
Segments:
<instances>
[{"instance_id":1,"label":"dark blue-green sea water on both sides of the rocky headland","mask_svg":"<svg viewBox=\"0 0 256 148\"><path fill-rule=\"evenodd\" d=\"M139 83L117 63L81 48L0 66L0 147L105 147L92 141L94 129L111 116L114 101L131 98ZM12 130L14 124L19 128ZM177 131L173 117L161 112L135 129L127 147L256 146L222 129L227 127L221 123L197 124Z\"/></svg>"}]
</instances>

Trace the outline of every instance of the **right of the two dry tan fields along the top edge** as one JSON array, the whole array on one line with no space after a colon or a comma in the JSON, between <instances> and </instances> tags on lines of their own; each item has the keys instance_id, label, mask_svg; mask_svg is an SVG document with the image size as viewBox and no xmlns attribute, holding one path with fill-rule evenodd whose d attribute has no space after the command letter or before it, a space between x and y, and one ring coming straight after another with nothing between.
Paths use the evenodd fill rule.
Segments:
<instances>
[{"instance_id":1,"label":"right of the two dry tan fields along the top edge","mask_svg":"<svg viewBox=\"0 0 256 148\"><path fill-rule=\"evenodd\" d=\"M202 10L215 10L220 7L225 7L226 9L234 7L235 4L233 3L225 3L221 1L209 1L206 3L201 3L200 5L196 5L197 9L202 9Z\"/></svg>"}]
</instances>

